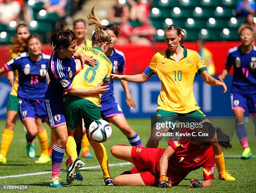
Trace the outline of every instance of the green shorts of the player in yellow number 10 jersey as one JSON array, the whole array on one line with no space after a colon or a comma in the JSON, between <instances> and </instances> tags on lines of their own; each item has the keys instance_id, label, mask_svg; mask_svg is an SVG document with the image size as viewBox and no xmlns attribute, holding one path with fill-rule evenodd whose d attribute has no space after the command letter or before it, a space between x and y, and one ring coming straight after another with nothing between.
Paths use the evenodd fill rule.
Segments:
<instances>
[{"instance_id":1,"label":"green shorts of the player in yellow number 10 jersey","mask_svg":"<svg viewBox=\"0 0 256 193\"><path fill-rule=\"evenodd\" d=\"M156 110L155 116L160 117L161 121L172 121L179 119L180 121L187 120L189 122L200 122L205 119L208 119L208 117L200 109L197 109L189 113L177 113L158 109Z\"/></svg>"}]
</instances>

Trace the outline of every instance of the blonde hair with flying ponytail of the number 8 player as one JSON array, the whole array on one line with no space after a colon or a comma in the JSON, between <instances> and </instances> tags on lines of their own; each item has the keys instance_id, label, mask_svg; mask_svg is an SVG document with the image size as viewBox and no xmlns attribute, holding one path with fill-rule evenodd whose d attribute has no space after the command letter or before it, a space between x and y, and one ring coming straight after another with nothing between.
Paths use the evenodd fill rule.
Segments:
<instances>
[{"instance_id":1,"label":"blonde hair with flying ponytail of the number 8 player","mask_svg":"<svg viewBox=\"0 0 256 193\"><path fill-rule=\"evenodd\" d=\"M87 16L89 23L88 25L95 25L95 32L92 35L92 45L100 45L102 43L110 43L111 38L107 32L103 30L103 26L100 23L100 20L94 14L94 8Z\"/></svg>"}]
</instances>

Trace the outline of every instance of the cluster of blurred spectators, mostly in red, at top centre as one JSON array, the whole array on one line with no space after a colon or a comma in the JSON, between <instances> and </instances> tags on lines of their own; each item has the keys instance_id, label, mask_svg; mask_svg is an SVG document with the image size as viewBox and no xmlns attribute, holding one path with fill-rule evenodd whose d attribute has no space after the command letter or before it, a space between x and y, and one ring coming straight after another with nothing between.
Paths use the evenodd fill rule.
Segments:
<instances>
[{"instance_id":1,"label":"cluster of blurred spectators, mostly in red, at top centre","mask_svg":"<svg viewBox=\"0 0 256 193\"><path fill-rule=\"evenodd\" d=\"M150 45L154 41L156 28L151 25L149 13L153 0L117 0L109 10L108 20L118 25L118 43Z\"/></svg>"}]
</instances>

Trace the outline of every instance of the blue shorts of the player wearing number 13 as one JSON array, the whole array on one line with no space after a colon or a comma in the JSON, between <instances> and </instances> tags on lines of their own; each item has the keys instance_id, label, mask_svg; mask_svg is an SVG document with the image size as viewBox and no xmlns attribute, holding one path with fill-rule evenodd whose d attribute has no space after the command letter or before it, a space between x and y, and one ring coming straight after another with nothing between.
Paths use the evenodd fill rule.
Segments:
<instances>
[{"instance_id":1,"label":"blue shorts of the player wearing number 13","mask_svg":"<svg viewBox=\"0 0 256 193\"><path fill-rule=\"evenodd\" d=\"M42 122L48 121L44 100L19 99L20 119L23 122L26 119L36 120L39 117Z\"/></svg>"}]
</instances>

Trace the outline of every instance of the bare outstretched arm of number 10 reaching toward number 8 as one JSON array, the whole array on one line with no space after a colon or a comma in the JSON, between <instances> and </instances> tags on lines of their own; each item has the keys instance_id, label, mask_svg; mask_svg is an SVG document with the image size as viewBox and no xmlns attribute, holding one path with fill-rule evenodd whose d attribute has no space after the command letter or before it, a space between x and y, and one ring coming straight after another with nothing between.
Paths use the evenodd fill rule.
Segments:
<instances>
[{"instance_id":1,"label":"bare outstretched arm of number 10 reaching toward number 8","mask_svg":"<svg viewBox=\"0 0 256 193\"><path fill-rule=\"evenodd\" d=\"M146 82L149 78L150 78L150 76L147 76L144 72L141 74L135 74L135 75L111 74L110 81L125 80L125 81L129 81L129 82L143 83L143 82Z\"/></svg>"}]
</instances>

